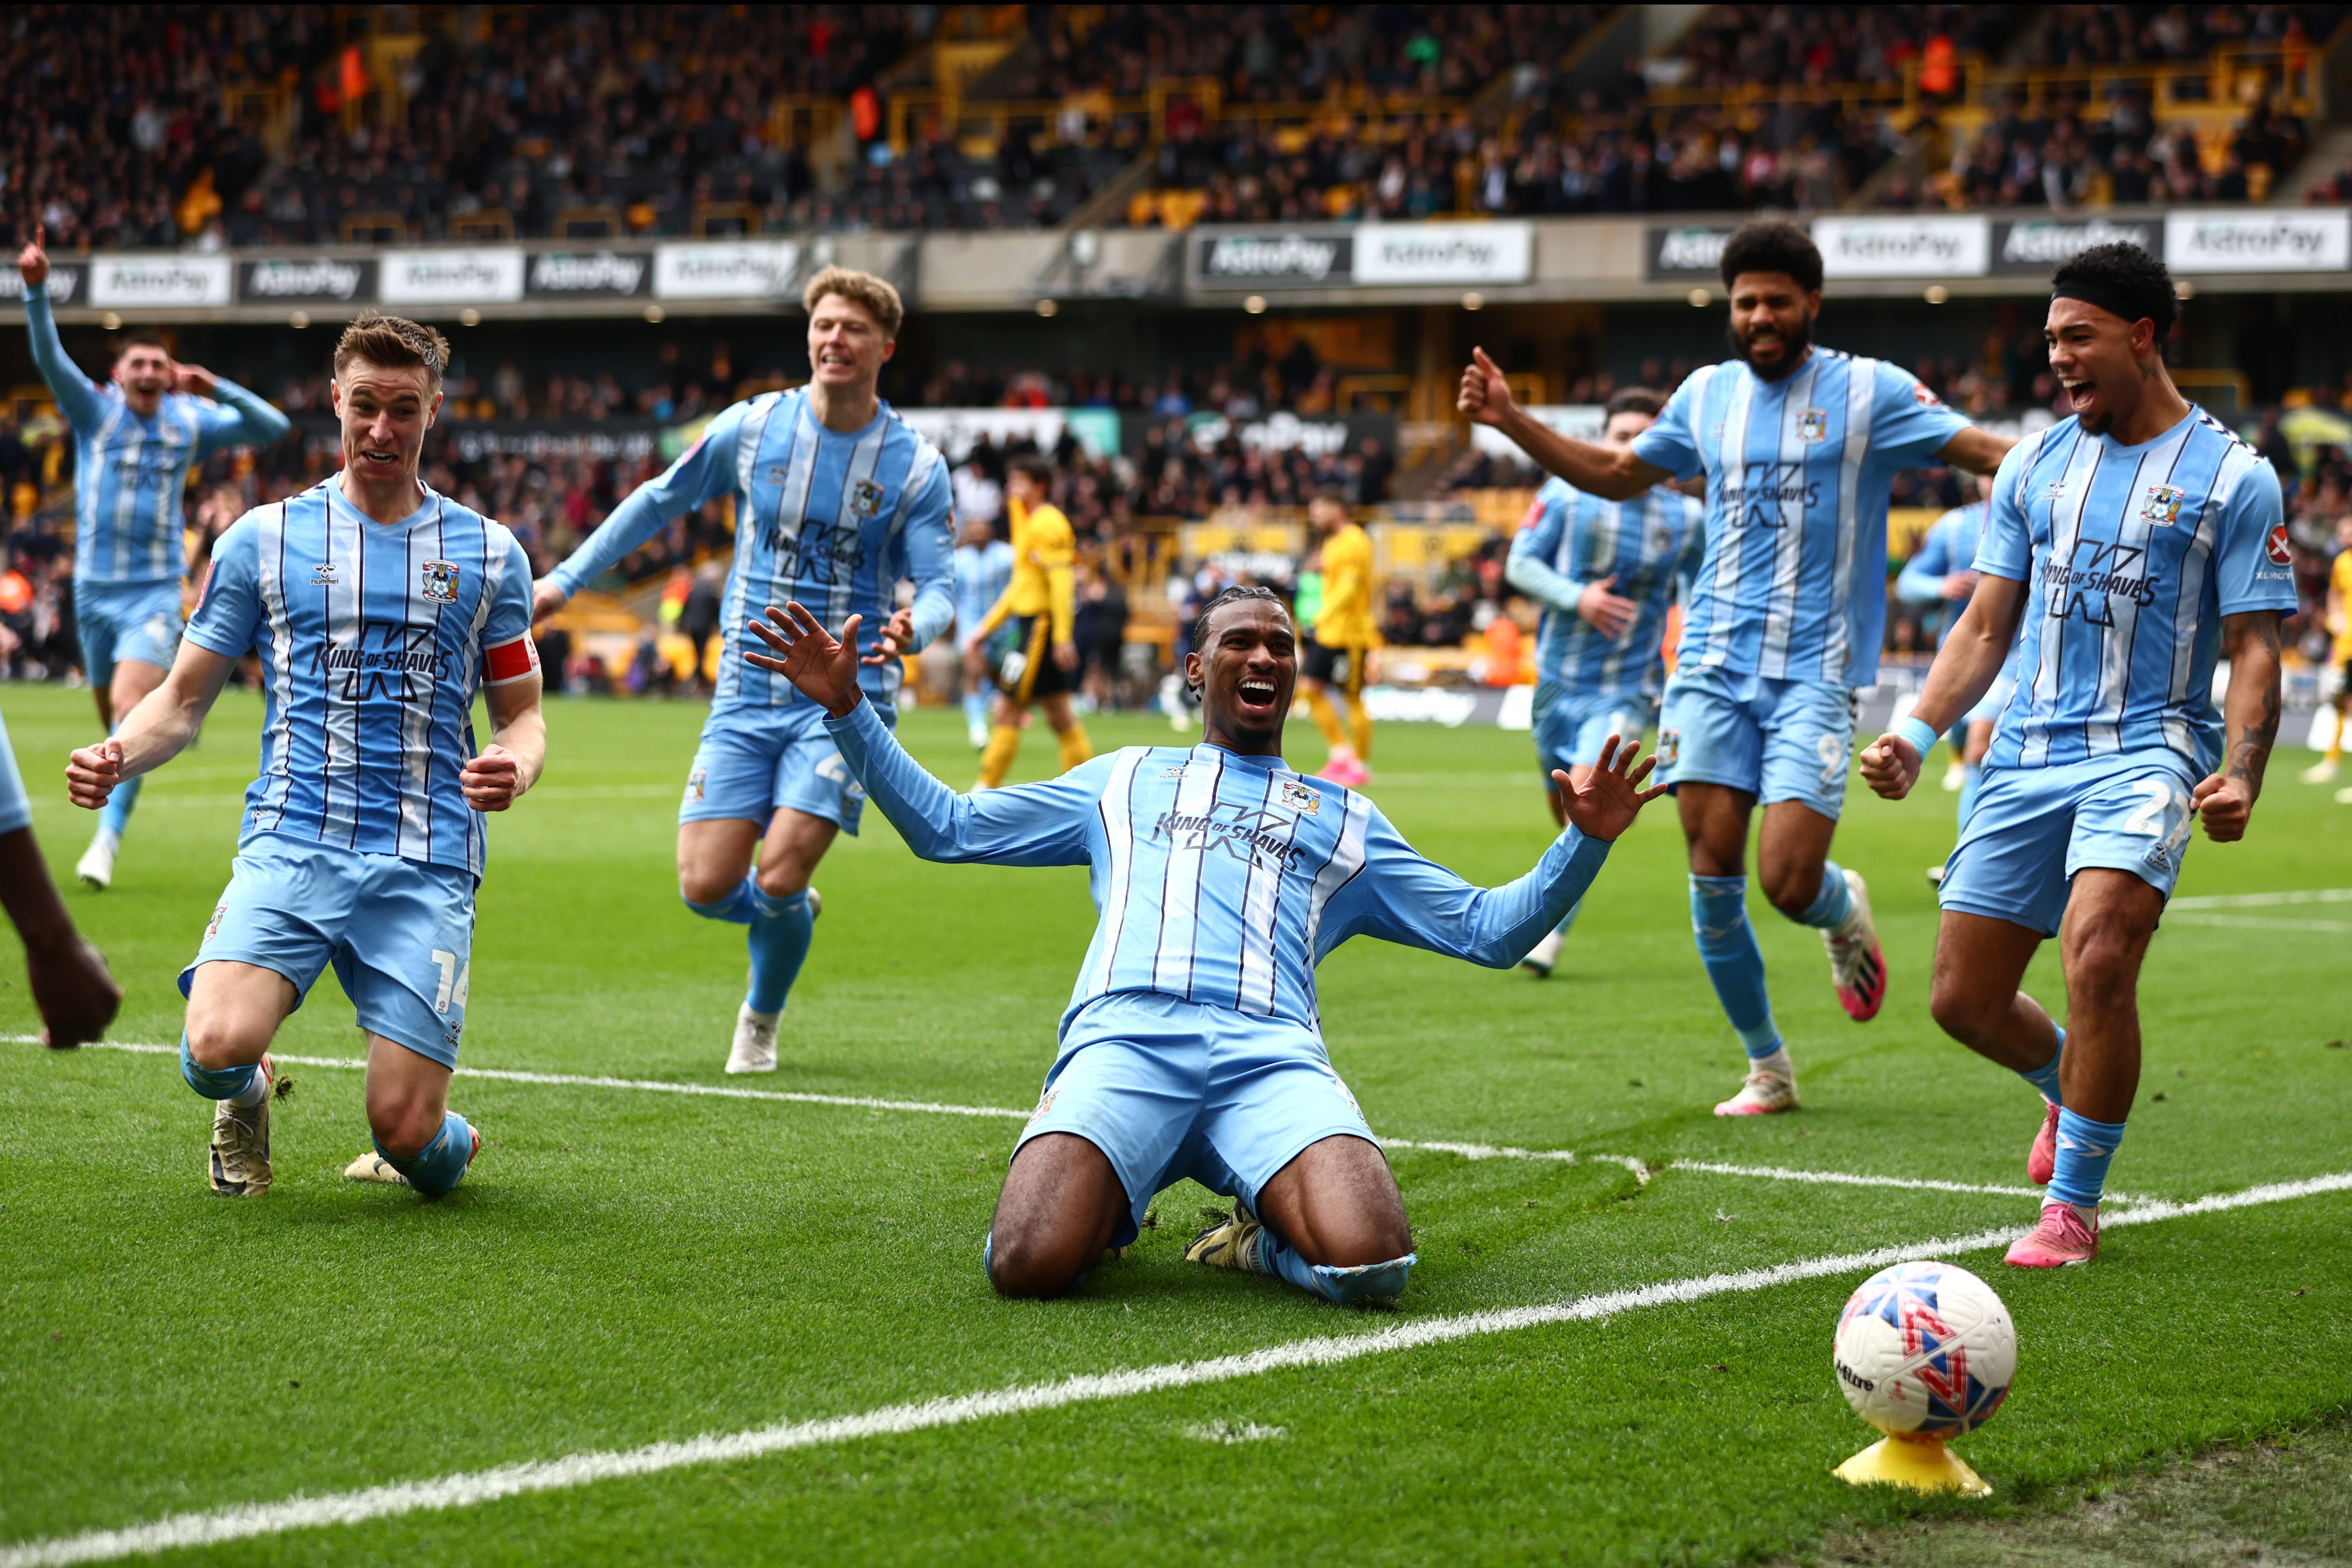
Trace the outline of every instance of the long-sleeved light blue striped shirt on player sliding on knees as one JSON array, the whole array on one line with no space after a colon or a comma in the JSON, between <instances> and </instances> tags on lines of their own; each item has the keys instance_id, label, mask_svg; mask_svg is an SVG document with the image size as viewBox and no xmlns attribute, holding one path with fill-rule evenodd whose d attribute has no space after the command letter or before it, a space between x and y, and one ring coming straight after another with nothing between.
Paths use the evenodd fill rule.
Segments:
<instances>
[{"instance_id":1,"label":"long-sleeved light blue striped shirt on player sliding on knees","mask_svg":"<svg viewBox=\"0 0 2352 1568\"><path fill-rule=\"evenodd\" d=\"M1583 898L1609 844L1569 827L1479 889L1423 860L1352 790L1279 757L1131 745L1044 783L957 795L858 703L842 759L924 860L1089 865L1101 924L1061 1016L1148 992L1319 1030L1315 966L1350 936L1503 969Z\"/></svg>"}]
</instances>

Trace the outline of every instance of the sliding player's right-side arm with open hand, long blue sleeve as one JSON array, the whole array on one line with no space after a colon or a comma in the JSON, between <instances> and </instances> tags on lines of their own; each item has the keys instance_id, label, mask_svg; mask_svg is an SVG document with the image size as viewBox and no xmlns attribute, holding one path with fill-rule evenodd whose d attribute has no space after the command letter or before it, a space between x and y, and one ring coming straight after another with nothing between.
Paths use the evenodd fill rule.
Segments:
<instances>
[{"instance_id":1,"label":"sliding player's right-side arm with open hand, long blue sleeve","mask_svg":"<svg viewBox=\"0 0 2352 1568\"><path fill-rule=\"evenodd\" d=\"M1616 736L1583 788L1564 773L1569 827L1543 851L1536 870L1498 889L1463 882L1423 858L1378 811L1364 832L1364 872L1331 898L1317 938L1317 959L1355 933L1444 952L1489 969L1510 969L1559 924L1609 858L1609 844L1663 785L1644 788L1656 757L1635 762L1637 748Z\"/></svg>"}]
</instances>

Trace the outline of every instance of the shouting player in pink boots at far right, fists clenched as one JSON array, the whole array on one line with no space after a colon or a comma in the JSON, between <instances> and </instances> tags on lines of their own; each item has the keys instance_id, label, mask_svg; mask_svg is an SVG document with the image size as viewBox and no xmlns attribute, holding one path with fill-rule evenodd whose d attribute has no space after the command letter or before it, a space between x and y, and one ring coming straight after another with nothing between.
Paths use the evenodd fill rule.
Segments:
<instances>
[{"instance_id":1,"label":"shouting player in pink boots at far right, fists clenched","mask_svg":"<svg viewBox=\"0 0 2352 1568\"><path fill-rule=\"evenodd\" d=\"M1900 799L2016 646L2018 693L1943 877L1933 1013L2046 1103L2027 1175L2049 1201L2009 1248L2020 1267L2098 1255L2140 1084L2147 938L2190 818L2218 844L2246 837L2279 731L2279 618L2296 609L2279 477L2173 388L2161 346L2178 313L2136 244L2058 268L2044 336L2074 414L2002 463L1959 630L1910 717L1863 750L1870 788ZM2018 990L2046 936L2065 1030Z\"/></svg>"}]
</instances>

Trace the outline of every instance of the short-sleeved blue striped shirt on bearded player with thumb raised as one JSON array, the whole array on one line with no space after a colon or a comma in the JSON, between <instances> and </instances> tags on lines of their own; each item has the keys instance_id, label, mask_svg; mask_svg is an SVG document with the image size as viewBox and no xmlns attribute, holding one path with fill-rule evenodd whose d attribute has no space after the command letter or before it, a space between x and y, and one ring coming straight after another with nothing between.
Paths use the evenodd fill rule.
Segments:
<instances>
[{"instance_id":1,"label":"short-sleeved blue striped shirt on bearded player with thumb raised","mask_svg":"<svg viewBox=\"0 0 2352 1568\"><path fill-rule=\"evenodd\" d=\"M1644 463L1708 475L1708 552L1677 670L1867 686L1886 632L1886 487L1969 421L1903 369L1813 348L1780 381L1708 364L1632 440Z\"/></svg>"}]
</instances>

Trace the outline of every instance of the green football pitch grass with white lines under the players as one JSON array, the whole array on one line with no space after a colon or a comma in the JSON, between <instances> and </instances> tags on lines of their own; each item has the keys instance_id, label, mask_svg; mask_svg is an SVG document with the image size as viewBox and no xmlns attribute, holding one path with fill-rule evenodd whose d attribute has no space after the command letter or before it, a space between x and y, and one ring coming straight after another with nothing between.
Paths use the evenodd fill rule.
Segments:
<instances>
[{"instance_id":1,"label":"green football pitch grass with white lines under the players","mask_svg":"<svg viewBox=\"0 0 2352 1568\"><path fill-rule=\"evenodd\" d=\"M64 877L89 698L9 686L5 715ZM673 875L701 717L550 703L473 947L463 1065L513 1077L456 1079L485 1143L440 1204L341 1178L367 1143L353 1070L287 1067L278 1185L226 1201L169 1056L0 1044L0 1563L1755 1561L2032 1514L2352 1403L2352 1190L2310 1185L2352 1171L2352 903L2220 903L2352 886L2352 809L2296 752L2249 844L2187 856L2114 1164L2147 1222L2086 1269L1990 1244L2034 1213L2039 1114L1926 1016L1919 872L1952 837L1931 776L1900 806L1856 783L1839 827L1891 969L1875 1023L1837 1009L1816 933L1750 900L1802 1112L1708 1114L1740 1058L1661 802L1548 983L1374 940L1322 966L1334 1065L1399 1140L1421 1267L1397 1307L1183 1265L1197 1187L1075 1298L1004 1302L978 1248L1094 929L1084 870L922 865L868 811L818 875L781 1070L727 1079L741 933ZM148 783L115 886L68 891L127 987L115 1041L179 1037L256 726L223 696ZM901 733L969 785L960 715ZM1047 766L1037 731L1016 778ZM1376 766L1383 811L1475 882L1550 837L1524 733L1383 726ZM2053 952L2030 987L2063 1016ZM0 1034L35 1027L9 957ZM332 973L280 1053L360 1056ZM2267 1201L2161 1208L2225 1194ZM1959 1446L1990 1505L1830 1476L1872 1436L1830 1373L1837 1309L1870 1253L1929 1251L2018 1324L2013 1394Z\"/></svg>"}]
</instances>

